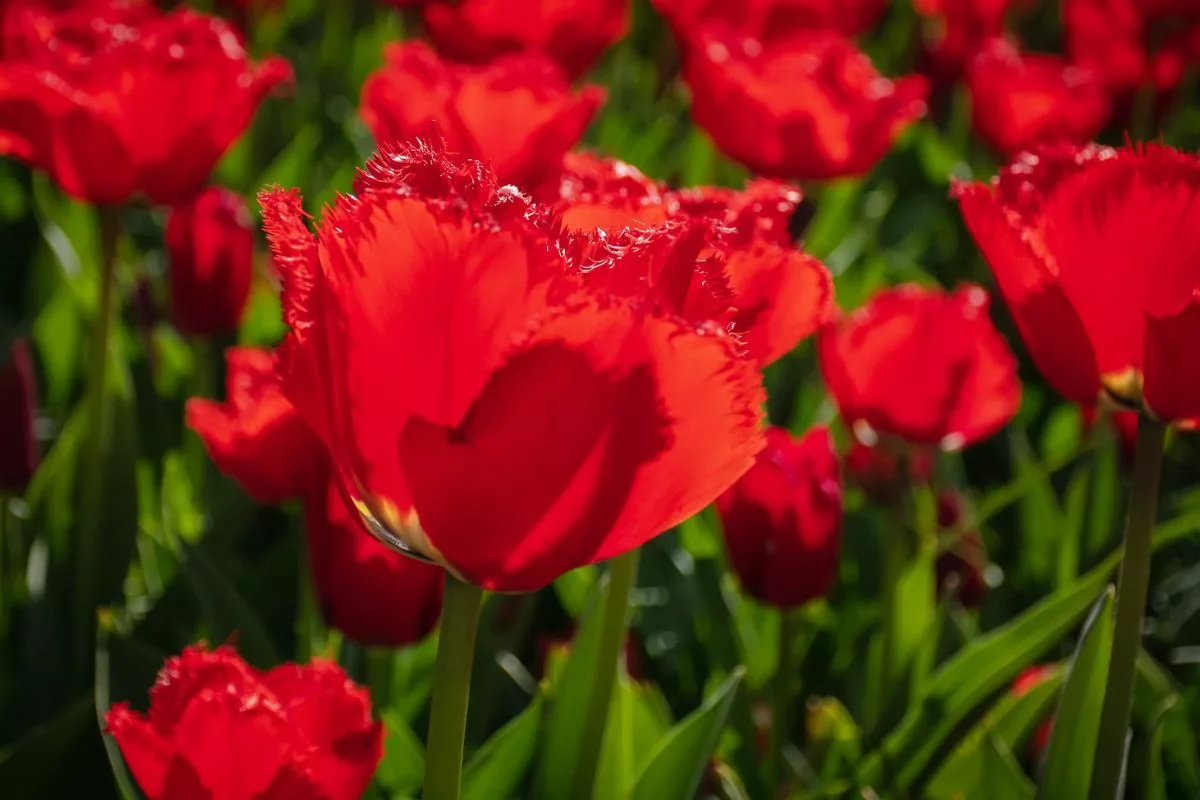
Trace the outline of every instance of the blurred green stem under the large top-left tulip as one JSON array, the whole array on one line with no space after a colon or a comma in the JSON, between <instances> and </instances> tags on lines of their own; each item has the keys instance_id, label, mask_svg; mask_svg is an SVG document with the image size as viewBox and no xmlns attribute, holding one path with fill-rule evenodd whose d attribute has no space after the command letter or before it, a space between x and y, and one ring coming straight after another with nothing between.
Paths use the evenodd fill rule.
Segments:
<instances>
[{"instance_id":1,"label":"blurred green stem under the large top-left tulip","mask_svg":"<svg viewBox=\"0 0 1200 800\"><path fill-rule=\"evenodd\" d=\"M79 541L76 552L74 676L86 682L95 663L96 582L104 505L104 443L108 426L108 359L116 283L116 246L121 235L120 206L101 206L100 299L92 324L86 403L89 411Z\"/></svg>"}]
</instances>

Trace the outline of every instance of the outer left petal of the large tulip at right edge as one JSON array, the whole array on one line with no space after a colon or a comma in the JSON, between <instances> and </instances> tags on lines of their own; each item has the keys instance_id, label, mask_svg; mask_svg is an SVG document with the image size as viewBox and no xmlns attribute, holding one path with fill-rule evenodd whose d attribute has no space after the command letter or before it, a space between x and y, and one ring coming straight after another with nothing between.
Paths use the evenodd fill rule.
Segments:
<instances>
[{"instance_id":1,"label":"outer left petal of the large tulip at right edge","mask_svg":"<svg viewBox=\"0 0 1200 800\"><path fill-rule=\"evenodd\" d=\"M960 184L954 194L1042 375L1067 399L1091 405L1100 395L1096 355L1051 266L989 187Z\"/></svg>"}]
</instances>

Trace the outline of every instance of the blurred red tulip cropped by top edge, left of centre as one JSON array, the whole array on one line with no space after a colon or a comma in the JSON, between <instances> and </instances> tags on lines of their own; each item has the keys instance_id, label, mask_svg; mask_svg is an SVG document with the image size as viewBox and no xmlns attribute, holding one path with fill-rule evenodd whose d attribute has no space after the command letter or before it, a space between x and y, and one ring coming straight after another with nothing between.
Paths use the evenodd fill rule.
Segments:
<instances>
[{"instance_id":1,"label":"blurred red tulip cropped by top edge, left of centre","mask_svg":"<svg viewBox=\"0 0 1200 800\"><path fill-rule=\"evenodd\" d=\"M436 0L422 18L434 46L452 59L486 64L536 53L575 77L629 30L629 0Z\"/></svg>"}]
</instances>

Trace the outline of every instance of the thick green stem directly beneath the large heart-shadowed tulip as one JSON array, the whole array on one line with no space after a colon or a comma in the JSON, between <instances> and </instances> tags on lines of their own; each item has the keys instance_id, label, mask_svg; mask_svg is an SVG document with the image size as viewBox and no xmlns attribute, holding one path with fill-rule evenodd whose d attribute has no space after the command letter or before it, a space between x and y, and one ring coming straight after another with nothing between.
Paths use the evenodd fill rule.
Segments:
<instances>
[{"instance_id":1,"label":"thick green stem directly beneath the large heart-shadowed tulip","mask_svg":"<svg viewBox=\"0 0 1200 800\"><path fill-rule=\"evenodd\" d=\"M467 700L482 594L479 587L446 572L426 742L425 793L421 795L425 800L457 800L462 789Z\"/></svg>"}]
</instances>

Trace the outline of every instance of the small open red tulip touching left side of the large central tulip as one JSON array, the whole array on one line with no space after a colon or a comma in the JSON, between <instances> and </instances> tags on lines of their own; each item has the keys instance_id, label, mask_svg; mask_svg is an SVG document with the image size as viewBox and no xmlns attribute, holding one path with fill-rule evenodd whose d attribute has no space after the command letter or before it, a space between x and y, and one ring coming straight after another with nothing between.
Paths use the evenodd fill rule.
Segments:
<instances>
[{"instance_id":1,"label":"small open red tulip touching left side of the large central tulip","mask_svg":"<svg viewBox=\"0 0 1200 800\"><path fill-rule=\"evenodd\" d=\"M320 440L283 396L270 350L226 351L226 401L187 401L187 427L217 469L260 503L323 491L329 473Z\"/></svg>"}]
</instances>

